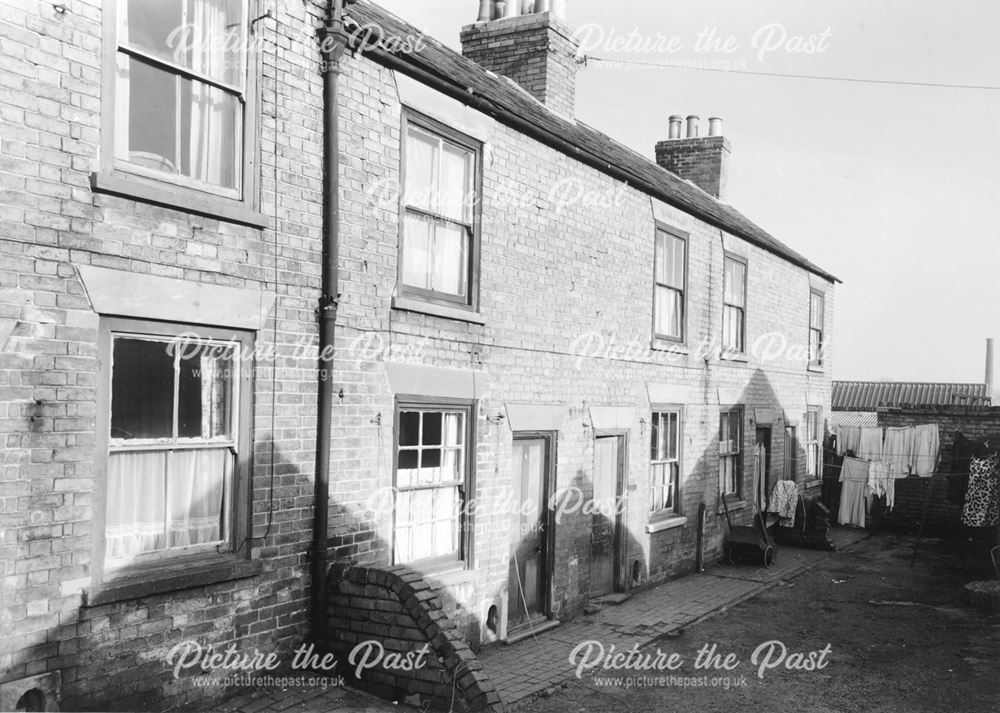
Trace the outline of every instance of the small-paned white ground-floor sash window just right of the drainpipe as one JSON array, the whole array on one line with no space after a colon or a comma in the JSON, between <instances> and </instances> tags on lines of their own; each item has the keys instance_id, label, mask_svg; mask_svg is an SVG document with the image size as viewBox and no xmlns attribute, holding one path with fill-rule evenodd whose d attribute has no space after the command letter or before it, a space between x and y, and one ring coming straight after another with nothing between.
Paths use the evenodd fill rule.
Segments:
<instances>
[{"instance_id":1,"label":"small-paned white ground-floor sash window just right of the drainpipe","mask_svg":"<svg viewBox=\"0 0 1000 713\"><path fill-rule=\"evenodd\" d=\"M401 402L396 428L395 561L465 559L471 404Z\"/></svg>"}]
</instances>

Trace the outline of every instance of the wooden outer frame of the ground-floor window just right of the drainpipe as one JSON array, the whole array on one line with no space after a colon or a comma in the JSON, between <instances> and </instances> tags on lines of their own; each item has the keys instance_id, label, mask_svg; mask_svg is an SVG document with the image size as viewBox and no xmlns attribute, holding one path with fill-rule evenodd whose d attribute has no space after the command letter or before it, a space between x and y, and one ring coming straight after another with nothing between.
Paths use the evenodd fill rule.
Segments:
<instances>
[{"instance_id":1,"label":"wooden outer frame of the ground-floor window just right of the drainpipe","mask_svg":"<svg viewBox=\"0 0 1000 713\"><path fill-rule=\"evenodd\" d=\"M471 569L473 566L474 545L474 508L469 508L470 499L476 496L476 413L478 403L470 399L455 399L444 397L427 397L417 395L401 395L396 397L395 418L392 432L392 561L393 564L405 564L407 567L425 572L440 572L451 569ZM409 562L398 562L396 559L396 496L399 492L397 483L399 471L399 425L400 414L403 411L462 411L465 414L465 458L464 485L459 488L458 552L452 556L428 557Z\"/></svg>"}]
</instances>

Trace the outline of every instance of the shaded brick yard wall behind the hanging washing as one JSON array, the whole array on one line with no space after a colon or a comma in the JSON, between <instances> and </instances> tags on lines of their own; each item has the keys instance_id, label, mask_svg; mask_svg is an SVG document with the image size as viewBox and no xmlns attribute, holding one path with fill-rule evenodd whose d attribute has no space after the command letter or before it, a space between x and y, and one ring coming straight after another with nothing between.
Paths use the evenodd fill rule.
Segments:
<instances>
[{"instance_id":1,"label":"shaded brick yard wall behind the hanging washing","mask_svg":"<svg viewBox=\"0 0 1000 713\"><path fill-rule=\"evenodd\" d=\"M927 509L925 532L936 534L961 534L962 505L948 502L948 480L955 431L967 438L982 440L991 437L1000 445L1000 407L992 406L938 406L931 408L882 408L878 411L878 425L920 426L936 423L941 437L941 461L934 478L934 493ZM896 502L886 523L916 531L920 525L930 478L910 476L896 481Z\"/></svg>"}]
</instances>

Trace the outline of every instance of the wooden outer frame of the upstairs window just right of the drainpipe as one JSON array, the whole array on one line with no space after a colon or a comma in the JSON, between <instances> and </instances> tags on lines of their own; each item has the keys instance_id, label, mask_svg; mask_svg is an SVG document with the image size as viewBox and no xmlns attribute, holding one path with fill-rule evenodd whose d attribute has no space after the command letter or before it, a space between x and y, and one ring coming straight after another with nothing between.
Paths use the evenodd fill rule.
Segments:
<instances>
[{"instance_id":1,"label":"wooden outer frame of the upstairs window just right of the drainpipe","mask_svg":"<svg viewBox=\"0 0 1000 713\"><path fill-rule=\"evenodd\" d=\"M400 297L424 302L438 307L458 309L462 311L478 313L479 311L479 268L480 268L480 247L482 233L482 204L483 204L483 144L480 141L467 136L455 129L432 119L426 114L422 114L414 109L404 107L402 116L402 126L400 131L400 151L399 151L399 249L396 251L396 284ZM450 295L435 290L426 290L419 287L412 287L403 282L403 253L406 241L406 141L409 134L410 124L419 127L423 131L434 134L440 139L460 146L472 152L475 166L472 171L473 191L475 200L472 209L472 234L469 236L469 250L466 256L466 278L468 281L467 295L463 299L457 295ZM426 211L417 211L421 215ZM454 222L454 221L449 221Z\"/></svg>"}]
</instances>

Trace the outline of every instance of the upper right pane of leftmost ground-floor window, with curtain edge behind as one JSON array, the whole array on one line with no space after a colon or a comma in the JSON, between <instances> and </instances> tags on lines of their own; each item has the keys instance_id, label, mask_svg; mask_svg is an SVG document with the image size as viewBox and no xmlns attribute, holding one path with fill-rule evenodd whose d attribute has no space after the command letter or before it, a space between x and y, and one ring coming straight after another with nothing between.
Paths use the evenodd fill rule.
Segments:
<instances>
[{"instance_id":1,"label":"upper right pane of leftmost ground-floor window, with curtain edge behind","mask_svg":"<svg viewBox=\"0 0 1000 713\"><path fill-rule=\"evenodd\" d=\"M235 350L208 345L197 354L182 352L177 384L180 438L232 436Z\"/></svg>"}]
</instances>

